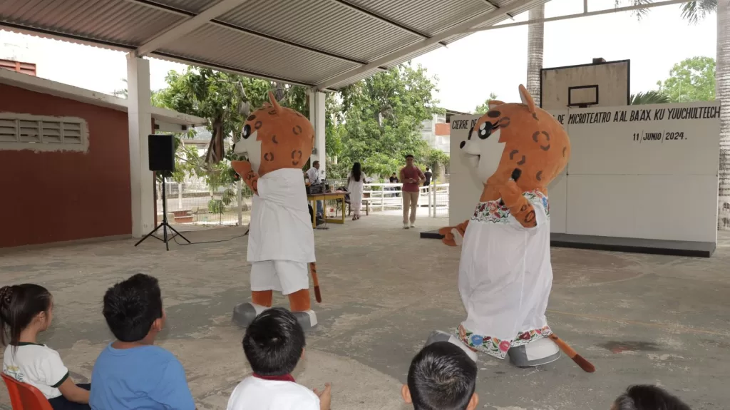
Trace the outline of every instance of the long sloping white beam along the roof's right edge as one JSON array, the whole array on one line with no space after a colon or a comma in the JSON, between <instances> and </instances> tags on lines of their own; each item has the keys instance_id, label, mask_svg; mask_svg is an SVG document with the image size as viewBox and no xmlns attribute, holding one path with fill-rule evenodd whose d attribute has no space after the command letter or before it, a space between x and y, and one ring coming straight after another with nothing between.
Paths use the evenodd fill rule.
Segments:
<instances>
[{"instance_id":1,"label":"long sloping white beam along the roof's right edge","mask_svg":"<svg viewBox=\"0 0 730 410\"><path fill-rule=\"evenodd\" d=\"M376 69L380 66L388 66L389 63L392 63L393 61L398 60L399 58L403 58L406 55L410 55L413 53L418 53L418 51L423 50L426 47L430 47L431 45L436 44L437 42L441 42L451 36L456 36L458 34L464 34L464 32L469 31L470 28L477 26L481 23L485 23L488 20L491 20L493 18L497 18L500 15L503 15L505 13L513 12L517 9L520 9L521 7L525 7L528 4L531 3L537 3L535 0L517 0L514 1L512 4L510 4L507 7L500 7L499 9L493 9L493 10L486 10L484 12L480 12L479 14L475 15L472 18L469 18L467 20L464 20L461 23L458 23L456 26L453 26L452 28L449 28L448 30L442 31L439 34L436 34L435 36L432 36L430 39L423 39L420 42L416 42L415 44L402 47L399 50L395 50L392 53L388 53L384 55L383 57L377 58L376 60L372 61L371 63L367 63L364 66L358 67L356 69L351 69L343 72L342 74L338 74L335 77L331 77L328 80L325 80L323 82L320 82L317 85L317 88L320 90L323 90L325 88L333 88L342 82L347 82L350 79L356 78L361 76L362 74L366 73L367 71L372 71L373 69Z\"/></svg>"}]
</instances>

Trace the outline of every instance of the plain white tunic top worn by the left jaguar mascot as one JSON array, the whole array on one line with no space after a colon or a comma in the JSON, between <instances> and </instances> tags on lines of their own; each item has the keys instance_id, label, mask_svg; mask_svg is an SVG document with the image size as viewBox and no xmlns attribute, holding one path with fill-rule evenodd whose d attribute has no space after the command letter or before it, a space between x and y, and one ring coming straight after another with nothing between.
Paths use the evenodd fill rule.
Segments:
<instances>
[{"instance_id":1,"label":"plain white tunic top worn by the left jaguar mascot","mask_svg":"<svg viewBox=\"0 0 730 410\"><path fill-rule=\"evenodd\" d=\"M315 262L315 233L301 170L277 169L258 179L258 195L251 200L247 260Z\"/></svg>"}]
</instances>

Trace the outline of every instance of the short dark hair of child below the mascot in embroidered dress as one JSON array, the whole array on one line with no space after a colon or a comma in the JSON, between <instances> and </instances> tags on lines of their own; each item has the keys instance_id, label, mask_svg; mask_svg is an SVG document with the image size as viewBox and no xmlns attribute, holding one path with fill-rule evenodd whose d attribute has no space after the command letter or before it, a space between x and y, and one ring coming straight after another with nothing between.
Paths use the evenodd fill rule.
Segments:
<instances>
[{"instance_id":1,"label":"short dark hair of child below the mascot in embroidered dress","mask_svg":"<svg viewBox=\"0 0 730 410\"><path fill-rule=\"evenodd\" d=\"M464 410L474 395L477 364L447 341L424 347L408 369L415 410Z\"/></svg>"}]
</instances>

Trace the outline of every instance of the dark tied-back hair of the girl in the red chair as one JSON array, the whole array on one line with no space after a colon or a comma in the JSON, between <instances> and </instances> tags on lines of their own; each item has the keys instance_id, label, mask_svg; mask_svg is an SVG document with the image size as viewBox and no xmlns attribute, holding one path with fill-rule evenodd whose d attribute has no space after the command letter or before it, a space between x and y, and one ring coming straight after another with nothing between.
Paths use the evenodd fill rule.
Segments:
<instances>
[{"instance_id":1,"label":"dark tied-back hair of the girl in the red chair","mask_svg":"<svg viewBox=\"0 0 730 410\"><path fill-rule=\"evenodd\" d=\"M32 283L0 287L0 343L17 347L20 332L39 313L50 311L51 299L45 287Z\"/></svg>"}]
</instances>

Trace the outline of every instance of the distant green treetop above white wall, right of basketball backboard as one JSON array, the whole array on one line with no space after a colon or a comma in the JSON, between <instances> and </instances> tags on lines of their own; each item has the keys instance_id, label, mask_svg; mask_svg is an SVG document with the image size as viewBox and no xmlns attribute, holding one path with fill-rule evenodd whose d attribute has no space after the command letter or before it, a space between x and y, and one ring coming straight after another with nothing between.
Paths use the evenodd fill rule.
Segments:
<instances>
[{"instance_id":1,"label":"distant green treetop above white wall, right of basketball backboard","mask_svg":"<svg viewBox=\"0 0 730 410\"><path fill-rule=\"evenodd\" d=\"M715 99L715 59L692 57L676 63L659 90L672 102Z\"/></svg>"}]
</instances>

